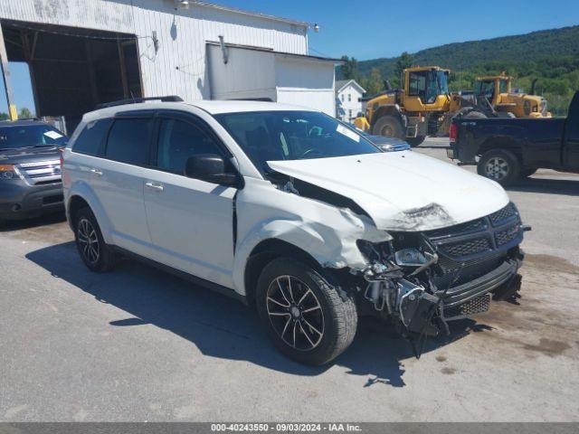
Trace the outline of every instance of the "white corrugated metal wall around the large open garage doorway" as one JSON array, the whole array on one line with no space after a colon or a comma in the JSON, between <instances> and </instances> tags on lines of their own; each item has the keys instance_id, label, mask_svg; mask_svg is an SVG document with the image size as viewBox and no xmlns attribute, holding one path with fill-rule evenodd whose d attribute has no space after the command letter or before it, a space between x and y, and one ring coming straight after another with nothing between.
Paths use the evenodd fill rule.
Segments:
<instances>
[{"instance_id":1,"label":"white corrugated metal wall around the large open garage doorway","mask_svg":"<svg viewBox=\"0 0 579 434\"><path fill-rule=\"evenodd\" d=\"M304 26L173 0L2 0L0 18L135 34L144 96L210 98L205 42L307 54ZM157 33L158 50L153 42Z\"/></svg>"}]
</instances>

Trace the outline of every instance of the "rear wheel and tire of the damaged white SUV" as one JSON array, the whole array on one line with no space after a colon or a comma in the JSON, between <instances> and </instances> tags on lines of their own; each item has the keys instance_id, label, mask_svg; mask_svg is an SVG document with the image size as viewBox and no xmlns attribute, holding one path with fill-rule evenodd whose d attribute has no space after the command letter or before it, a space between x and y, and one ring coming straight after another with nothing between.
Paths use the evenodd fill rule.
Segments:
<instances>
[{"instance_id":1,"label":"rear wheel and tire of the damaged white SUV","mask_svg":"<svg viewBox=\"0 0 579 434\"><path fill-rule=\"evenodd\" d=\"M99 223L88 207L74 216L74 241L82 262L91 271L108 271L114 267L117 255L105 243Z\"/></svg>"}]
</instances>

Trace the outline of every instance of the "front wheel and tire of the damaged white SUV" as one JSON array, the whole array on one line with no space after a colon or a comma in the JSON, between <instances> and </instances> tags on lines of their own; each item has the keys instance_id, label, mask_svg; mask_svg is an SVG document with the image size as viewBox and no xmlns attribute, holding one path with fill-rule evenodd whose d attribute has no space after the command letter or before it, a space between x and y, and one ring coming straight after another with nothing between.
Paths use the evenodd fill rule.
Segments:
<instances>
[{"instance_id":1,"label":"front wheel and tire of the damaged white SUV","mask_svg":"<svg viewBox=\"0 0 579 434\"><path fill-rule=\"evenodd\" d=\"M318 271L296 259L273 259L261 271L255 298L273 343L299 363L328 363L356 335L354 301L342 299Z\"/></svg>"}]
</instances>

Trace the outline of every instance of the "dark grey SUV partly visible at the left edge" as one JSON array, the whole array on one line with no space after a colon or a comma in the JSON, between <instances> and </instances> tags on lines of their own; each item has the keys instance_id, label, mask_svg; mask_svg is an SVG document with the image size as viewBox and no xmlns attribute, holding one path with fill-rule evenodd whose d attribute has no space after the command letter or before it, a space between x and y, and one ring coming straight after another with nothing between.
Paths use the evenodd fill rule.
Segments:
<instances>
[{"instance_id":1,"label":"dark grey SUV partly visible at the left edge","mask_svg":"<svg viewBox=\"0 0 579 434\"><path fill-rule=\"evenodd\" d=\"M59 151L67 141L39 120L0 122L0 224L63 209Z\"/></svg>"}]
</instances>

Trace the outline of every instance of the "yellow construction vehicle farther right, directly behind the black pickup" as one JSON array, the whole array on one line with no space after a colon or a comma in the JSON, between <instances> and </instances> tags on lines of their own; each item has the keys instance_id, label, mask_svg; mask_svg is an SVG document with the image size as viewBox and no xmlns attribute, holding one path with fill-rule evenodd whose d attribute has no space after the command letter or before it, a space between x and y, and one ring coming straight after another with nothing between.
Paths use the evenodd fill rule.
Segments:
<instances>
[{"instance_id":1,"label":"yellow construction vehicle farther right, directly behind the black pickup","mask_svg":"<svg viewBox=\"0 0 579 434\"><path fill-rule=\"evenodd\" d=\"M512 80L505 71L499 75L478 77L474 95L488 99L498 113L512 113L515 118L551 118L551 113L546 110L546 99L534 95L536 80L530 94L513 92Z\"/></svg>"}]
</instances>

